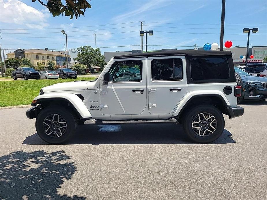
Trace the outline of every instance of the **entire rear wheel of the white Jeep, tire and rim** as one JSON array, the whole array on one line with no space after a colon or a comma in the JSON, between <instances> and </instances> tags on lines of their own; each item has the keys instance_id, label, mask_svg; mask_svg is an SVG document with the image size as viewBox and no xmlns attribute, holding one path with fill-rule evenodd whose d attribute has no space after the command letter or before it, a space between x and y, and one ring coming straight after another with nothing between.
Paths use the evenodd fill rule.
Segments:
<instances>
[{"instance_id":1,"label":"entire rear wheel of the white Jeep, tire and rim","mask_svg":"<svg viewBox=\"0 0 267 200\"><path fill-rule=\"evenodd\" d=\"M183 124L186 135L197 143L218 139L225 126L223 114L212 105L201 105L189 110Z\"/></svg>"}]
</instances>

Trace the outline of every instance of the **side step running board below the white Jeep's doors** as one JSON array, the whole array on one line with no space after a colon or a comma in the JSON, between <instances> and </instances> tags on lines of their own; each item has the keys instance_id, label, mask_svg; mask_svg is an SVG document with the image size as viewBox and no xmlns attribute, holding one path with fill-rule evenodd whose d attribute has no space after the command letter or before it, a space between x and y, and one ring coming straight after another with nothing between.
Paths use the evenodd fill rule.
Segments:
<instances>
[{"instance_id":1,"label":"side step running board below the white Jeep's doors","mask_svg":"<svg viewBox=\"0 0 267 200\"><path fill-rule=\"evenodd\" d=\"M87 120L89 121L89 120ZM163 120L91 120L91 122L85 121L85 124L152 124L152 123L176 123L175 118L163 119ZM95 121L95 123L94 123Z\"/></svg>"}]
</instances>

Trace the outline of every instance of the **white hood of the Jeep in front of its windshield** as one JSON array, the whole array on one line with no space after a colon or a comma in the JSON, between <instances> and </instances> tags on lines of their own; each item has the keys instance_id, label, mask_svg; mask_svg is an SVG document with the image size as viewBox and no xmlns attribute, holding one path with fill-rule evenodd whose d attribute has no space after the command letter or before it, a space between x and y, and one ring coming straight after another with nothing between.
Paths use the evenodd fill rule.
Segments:
<instances>
[{"instance_id":1,"label":"white hood of the Jeep in front of its windshield","mask_svg":"<svg viewBox=\"0 0 267 200\"><path fill-rule=\"evenodd\" d=\"M59 91L71 91L71 90L89 90L96 89L96 81L72 81L65 83L57 83L54 85L46 86L42 88L44 93L46 92L59 92Z\"/></svg>"}]
</instances>

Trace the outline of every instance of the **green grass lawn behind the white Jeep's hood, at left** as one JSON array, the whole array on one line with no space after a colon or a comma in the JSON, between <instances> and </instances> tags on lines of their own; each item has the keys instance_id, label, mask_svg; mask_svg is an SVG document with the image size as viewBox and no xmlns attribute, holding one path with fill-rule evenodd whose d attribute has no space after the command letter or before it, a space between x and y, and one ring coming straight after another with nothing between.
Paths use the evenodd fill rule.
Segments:
<instances>
[{"instance_id":1,"label":"green grass lawn behind the white Jeep's hood, at left","mask_svg":"<svg viewBox=\"0 0 267 200\"><path fill-rule=\"evenodd\" d=\"M58 80L12 80L0 81L0 107L13 105L27 105L39 95L41 88L55 83L74 80L94 80L96 77L78 77L77 79Z\"/></svg>"}]
</instances>

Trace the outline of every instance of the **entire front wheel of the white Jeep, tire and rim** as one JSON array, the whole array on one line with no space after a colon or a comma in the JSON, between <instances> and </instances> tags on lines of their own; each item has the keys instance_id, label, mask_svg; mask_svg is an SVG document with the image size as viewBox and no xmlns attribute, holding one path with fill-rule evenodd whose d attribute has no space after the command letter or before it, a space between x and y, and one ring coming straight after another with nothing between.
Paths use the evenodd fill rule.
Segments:
<instances>
[{"instance_id":1,"label":"entire front wheel of the white Jeep, tire and rim","mask_svg":"<svg viewBox=\"0 0 267 200\"><path fill-rule=\"evenodd\" d=\"M44 141L61 144L76 132L77 120L64 107L50 106L38 114L35 127L38 135Z\"/></svg>"}]
</instances>

